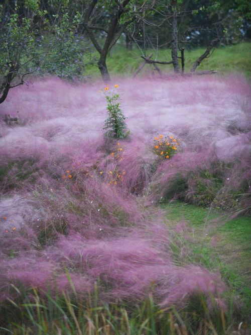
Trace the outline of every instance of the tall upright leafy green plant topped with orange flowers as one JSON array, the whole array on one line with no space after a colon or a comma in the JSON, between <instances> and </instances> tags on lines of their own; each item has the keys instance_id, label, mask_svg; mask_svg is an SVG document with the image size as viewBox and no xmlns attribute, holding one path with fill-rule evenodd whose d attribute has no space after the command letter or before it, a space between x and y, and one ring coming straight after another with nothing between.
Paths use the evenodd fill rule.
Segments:
<instances>
[{"instance_id":1,"label":"tall upright leafy green plant topped with orange flowers","mask_svg":"<svg viewBox=\"0 0 251 335\"><path fill-rule=\"evenodd\" d=\"M117 88L118 85L115 85ZM104 88L105 92L108 92L109 85ZM99 91L100 92L100 91ZM105 94L105 99L107 101L107 111L108 111L108 118L104 122L103 129L108 129L105 135L107 137L113 138L126 138L130 131L127 131L127 125L124 120L126 117L123 115L120 109L120 102L118 102L119 94L114 93L114 91L109 95L108 93Z\"/></svg>"}]
</instances>

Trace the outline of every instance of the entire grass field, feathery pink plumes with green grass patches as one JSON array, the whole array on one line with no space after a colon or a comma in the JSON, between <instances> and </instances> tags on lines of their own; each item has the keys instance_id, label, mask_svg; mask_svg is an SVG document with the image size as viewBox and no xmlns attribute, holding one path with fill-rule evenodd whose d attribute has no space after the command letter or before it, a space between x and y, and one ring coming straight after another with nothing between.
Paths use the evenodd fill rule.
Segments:
<instances>
[{"instance_id":1,"label":"entire grass field, feathery pink plumes with green grass patches","mask_svg":"<svg viewBox=\"0 0 251 335\"><path fill-rule=\"evenodd\" d=\"M249 333L248 49L206 60L239 73L132 79L141 59L117 48L110 86L43 77L10 91L1 335ZM126 138L104 136L104 92L121 99Z\"/></svg>"}]
</instances>

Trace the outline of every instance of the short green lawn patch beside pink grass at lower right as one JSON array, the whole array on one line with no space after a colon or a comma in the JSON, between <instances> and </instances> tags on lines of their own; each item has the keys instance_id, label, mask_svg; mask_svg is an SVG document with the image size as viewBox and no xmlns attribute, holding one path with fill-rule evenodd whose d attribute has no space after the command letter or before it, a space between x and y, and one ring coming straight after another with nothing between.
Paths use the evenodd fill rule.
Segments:
<instances>
[{"instance_id":1,"label":"short green lawn patch beside pink grass at lower right","mask_svg":"<svg viewBox=\"0 0 251 335\"><path fill-rule=\"evenodd\" d=\"M184 256L184 262L219 271L232 293L240 296L243 315L247 313L251 304L250 217L227 220L225 213L179 201L161 207L167 212L167 224L171 229L180 222L185 223L183 229L175 232L177 245L182 245L177 252L191 250Z\"/></svg>"}]
</instances>

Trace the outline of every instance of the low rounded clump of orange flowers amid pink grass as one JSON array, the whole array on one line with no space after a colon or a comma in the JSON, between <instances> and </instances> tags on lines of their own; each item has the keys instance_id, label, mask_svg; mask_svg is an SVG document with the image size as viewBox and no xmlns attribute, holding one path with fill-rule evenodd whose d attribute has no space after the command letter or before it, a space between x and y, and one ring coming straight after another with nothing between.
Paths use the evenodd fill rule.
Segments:
<instances>
[{"instance_id":1,"label":"low rounded clump of orange flowers amid pink grass","mask_svg":"<svg viewBox=\"0 0 251 335\"><path fill-rule=\"evenodd\" d=\"M160 135L154 138L154 152L164 159L171 158L177 152L177 146L179 145L178 139L173 136L164 138L163 135Z\"/></svg>"}]
</instances>

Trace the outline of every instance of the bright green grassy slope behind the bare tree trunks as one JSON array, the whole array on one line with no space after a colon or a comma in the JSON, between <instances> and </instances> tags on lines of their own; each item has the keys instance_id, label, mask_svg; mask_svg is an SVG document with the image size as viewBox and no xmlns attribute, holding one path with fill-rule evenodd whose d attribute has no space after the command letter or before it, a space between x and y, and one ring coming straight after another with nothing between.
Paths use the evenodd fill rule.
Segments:
<instances>
[{"instance_id":1,"label":"bright green grassy slope behind the bare tree trunks","mask_svg":"<svg viewBox=\"0 0 251 335\"><path fill-rule=\"evenodd\" d=\"M205 52L206 48L196 50L185 50L185 72L188 72L192 67L194 61ZM159 61L171 61L171 50L161 49L147 50L146 54L153 53L151 59ZM95 54L98 57L98 54ZM204 59L197 67L200 70L217 70L219 74L227 74L231 71L238 71L244 73L247 77L251 75L251 43L243 42L231 46L220 46L214 50L212 55ZM128 51L121 44L116 45L109 56L107 57L107 67L111 76L132 76L139 65L143 62L141 52L134 46L133 51ZM174 73L172 64L158 65L164 73ZM153 65L145 65L139 75L146 72L156 73ZM150 72L150 73L151 73ZM93 78L100 78L100 72L96 65L87 66L85 68L85 75Z\"/></svg>"}]
</instances>

